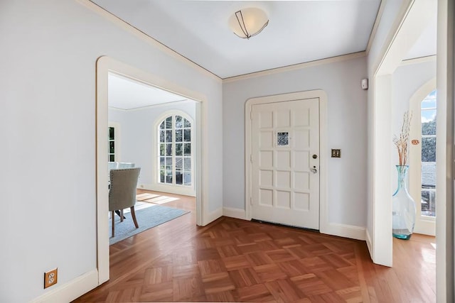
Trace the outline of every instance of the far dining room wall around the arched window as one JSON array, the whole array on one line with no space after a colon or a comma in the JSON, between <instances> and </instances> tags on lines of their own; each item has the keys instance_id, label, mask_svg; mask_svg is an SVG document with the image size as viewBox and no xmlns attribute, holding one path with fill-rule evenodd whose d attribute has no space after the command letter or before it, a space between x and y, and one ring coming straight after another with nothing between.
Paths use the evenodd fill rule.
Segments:
<instances>
[{"instance_id":1,"label":"far dining room wall around the arched window","mask_svg":"<svg viewBox=\"0 0 455 303\"><path fill-rule=\"evenodd\" d=\"M141 167L139 184L153 183L153 175L156 172L155 160L152 158L156 150L155 123L162 114L171 110L183 111L196 122L196 101L129 111L109 107L109 122L119 123L120 126L120 144L117 145L120 152L118 161L134 162L136 166Z\"/></svg>"}]
</instances>

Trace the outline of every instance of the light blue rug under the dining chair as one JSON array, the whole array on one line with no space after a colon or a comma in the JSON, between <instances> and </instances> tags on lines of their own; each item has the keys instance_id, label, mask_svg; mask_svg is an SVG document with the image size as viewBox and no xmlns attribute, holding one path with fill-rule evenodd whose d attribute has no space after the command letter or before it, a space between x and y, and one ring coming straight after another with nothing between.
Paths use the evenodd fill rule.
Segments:
<instances>
[{"instance_id":1,"label":"light blue rug under the dining chair","mask_svg":"<svg viewBox=\"0 0 455 303\"><path fill-rule=\"evenodd\" d=\"M149 228L164 224L167 221L188 214L189 211L184 211L182 209L173 209L167 206L161 206L156 204L137 202L134 206L136 213L137 224L139 228L134 226L131 213L127 212L127 209L124 210L124 216L126 219L123 222L120 222L120 217L115 215L115 236L112 237L112 219L109 218L109 245L122 241L126 238L134 236L137 233L146 231Z\"/></svg>"}]
</instances>

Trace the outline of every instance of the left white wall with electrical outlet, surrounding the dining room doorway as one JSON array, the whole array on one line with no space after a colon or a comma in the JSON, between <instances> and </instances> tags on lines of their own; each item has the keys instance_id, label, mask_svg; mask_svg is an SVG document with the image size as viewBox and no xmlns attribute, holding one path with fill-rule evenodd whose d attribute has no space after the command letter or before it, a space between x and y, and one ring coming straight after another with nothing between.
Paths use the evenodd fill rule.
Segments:
<instances>
[{"instance_id":1,"label":"left white wall with electrical outlet, surrounding the dining room doorway","mask_svg":"<svg viewBox=\"0 0 455 303\"><path fill-rule=\"evenodd\" d=\"M95 62L111 56L207 98L220 167L221 84L72 0L0 1L0 301L28 302L94 270ZM208 209L222 207L208 170ZM43 290L43 272L58 285Z\"/></svg>"}]
</instances>

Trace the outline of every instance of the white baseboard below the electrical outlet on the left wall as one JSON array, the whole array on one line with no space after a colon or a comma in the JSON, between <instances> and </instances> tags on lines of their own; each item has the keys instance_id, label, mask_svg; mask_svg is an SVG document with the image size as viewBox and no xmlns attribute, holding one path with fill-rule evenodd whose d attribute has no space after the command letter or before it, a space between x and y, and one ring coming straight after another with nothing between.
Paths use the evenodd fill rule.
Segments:
<instances>
[{"instance_id":1,"label":"white baseboard below the electrical outlet on the left wall","mask_svg":"<svg viewBox=\"0 0 455 303\"><path fill-rule=\"evenodd\" d=\"M71 302L98 286L98 270L86 272L64 285L33 299L32 303Z\"/></svg>"}]
</instances>

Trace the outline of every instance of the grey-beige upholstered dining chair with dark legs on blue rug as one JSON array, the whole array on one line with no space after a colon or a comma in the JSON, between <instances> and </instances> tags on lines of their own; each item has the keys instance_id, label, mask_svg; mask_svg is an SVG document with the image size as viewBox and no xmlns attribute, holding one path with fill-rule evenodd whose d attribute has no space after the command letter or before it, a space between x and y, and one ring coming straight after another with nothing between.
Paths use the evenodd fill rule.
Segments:
<instances>
[{"instance_id":1,"label":"grey-beige upholstered dining chair with dark legs on blue rug","mask_svg":"<svg viewBox=\"0 0 455 303\"><path fill-rule=\"evenodd\" d=\"M134 212L136 204L137 180L141 167L119 168L109 172L109 211L112 211L112 236L115 235L114 211L120 210L120 221L123 221L123 209L130 208L134 226L139 228Z\"/></svg>"}]
</instances>

